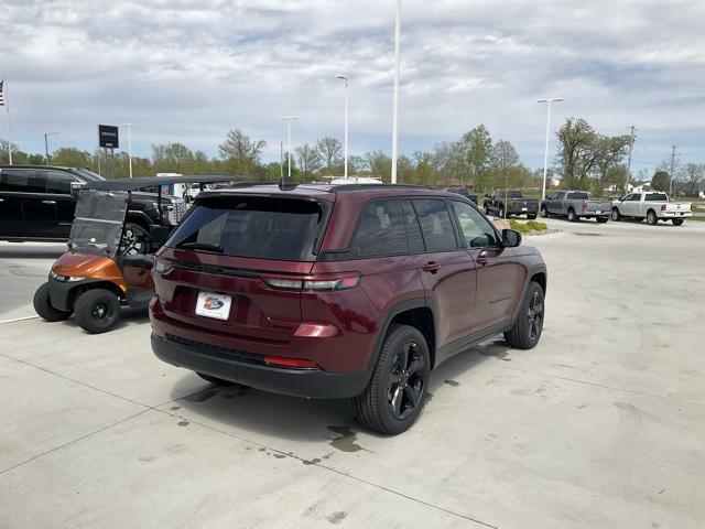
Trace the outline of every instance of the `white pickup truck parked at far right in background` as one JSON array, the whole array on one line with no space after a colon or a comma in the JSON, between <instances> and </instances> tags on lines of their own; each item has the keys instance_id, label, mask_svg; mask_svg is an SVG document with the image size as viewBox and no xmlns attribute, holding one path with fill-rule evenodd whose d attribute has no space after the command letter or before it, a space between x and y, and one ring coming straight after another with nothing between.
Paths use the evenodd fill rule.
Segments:
<instances>
[{"instance_id":1,"label":"white pickup truck parked at far right in background","mask_svg":"<svg viewBox=\"0 0 705 529\"><path fill-rule=\"evenodd\" d=\"M630 193L612 203L612 220L628 217L641 222L646 218L653 226L659 220L670 219L674 226L681 226L692 216L690 202L670 202L669 195L660 191Z\"/></svg>"}]
</instances>

